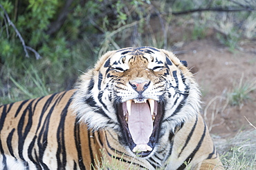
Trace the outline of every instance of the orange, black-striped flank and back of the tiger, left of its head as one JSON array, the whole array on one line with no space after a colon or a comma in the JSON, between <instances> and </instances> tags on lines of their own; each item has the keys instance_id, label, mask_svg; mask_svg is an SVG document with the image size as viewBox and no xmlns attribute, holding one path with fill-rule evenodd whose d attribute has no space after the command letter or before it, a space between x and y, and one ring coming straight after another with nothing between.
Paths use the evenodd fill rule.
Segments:
<instances>
[{"instance_id":1,"label":"orange, black-striped flank and back of the tiger, left of its head","mask_svg":"<svg viewBox=\"0 0 256 170\"><path fill-rule=\"evenodd\" d=\"M5 153L0 167L15 158L30 169L91 168L89 162L93 163L95 154L101 156L100 146L90 138L94 134L86 125L75 120L69 107L73 93L71 90L0 107L0 151Z\"/></svg>"}]
</instances>

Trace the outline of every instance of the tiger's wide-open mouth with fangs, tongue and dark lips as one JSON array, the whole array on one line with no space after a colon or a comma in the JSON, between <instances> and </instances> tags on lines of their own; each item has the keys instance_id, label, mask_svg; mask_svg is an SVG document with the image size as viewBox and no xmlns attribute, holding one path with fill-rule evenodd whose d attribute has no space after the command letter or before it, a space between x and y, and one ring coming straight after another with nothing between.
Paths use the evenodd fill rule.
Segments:
<instances>
[{"instance_id":1,"label":"tiger's wide-open mouth with fangs, tongue and dark lips","mask_svg":"<svg viewBox=\"0 0 256 170\"><path fill-rule=\"evenodd\" d=\"M158 142L163 103L153 99L134 99L118 103L117 108L129 149L137 156L149 156Z\"/></svg>"}]
</instances>

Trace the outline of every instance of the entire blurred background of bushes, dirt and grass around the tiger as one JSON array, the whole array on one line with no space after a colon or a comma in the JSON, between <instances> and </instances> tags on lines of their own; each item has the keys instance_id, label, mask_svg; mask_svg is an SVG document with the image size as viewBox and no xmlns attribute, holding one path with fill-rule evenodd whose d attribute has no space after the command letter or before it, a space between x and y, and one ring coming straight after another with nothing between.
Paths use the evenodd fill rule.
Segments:
<instances>
[{"instance_id":1,"label":"entire blurred background of bushes, dirt and grass around the tiger","mask_svg":"<svg viewBox=\"0 0 256 170\"><path fill-rule=\"evenodd\" d=\"M256 169L255 10L255 0L1 0L0 104L71 89L109 50L164 48L188 61L228 169Z\"/></svg>"}]
</instances>

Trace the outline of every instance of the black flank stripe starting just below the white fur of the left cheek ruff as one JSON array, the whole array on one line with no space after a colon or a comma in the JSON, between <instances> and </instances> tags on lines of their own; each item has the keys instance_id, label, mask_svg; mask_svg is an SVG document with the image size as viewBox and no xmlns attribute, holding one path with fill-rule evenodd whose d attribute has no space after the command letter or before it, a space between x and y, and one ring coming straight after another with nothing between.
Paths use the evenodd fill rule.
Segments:
<instances>
[{"instance_id":1,"label":"black flank stripe starting just below the white fur of the left cheek ruff","mask_svg":"<svg viewBox=\"0 0 256 170\"><path fill-rule=\"evenodd\" d=\"M82 149L81 149L80 123L78 123L78 121L79 121L79 119L76 118L75 127L74 127L75 147L76 147L76 151L77 151L79 167L80 167L80 169L85 169L84 160L82 158Z\"/></svg>"}]
</instances>

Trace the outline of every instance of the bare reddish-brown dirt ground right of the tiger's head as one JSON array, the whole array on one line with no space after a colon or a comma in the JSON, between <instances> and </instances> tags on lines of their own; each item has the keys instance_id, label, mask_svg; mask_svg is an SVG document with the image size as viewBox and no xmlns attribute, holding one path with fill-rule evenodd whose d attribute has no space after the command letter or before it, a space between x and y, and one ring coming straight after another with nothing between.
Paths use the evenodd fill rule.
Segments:
<instances>
[{"instance_id":1,"label":"bare reddish-brown dirt ground right of the tiger's head","mask_svg":"<svg viewBox=\"0 0 256 170\"><path fill-rule=\"evenodd\" d=\"M244 42L239 50L230 52L228 47L210 38L185 43L180 60L188 62L202 92L202 114L210 133L219 138L231 138L239 131L252 129L246 118L256 126L256 92L244 105L231 106L226 94L235 85L256 81L256 43ZM246 118L245 118L246 117Z\"/></svg>"}]
</instances>

